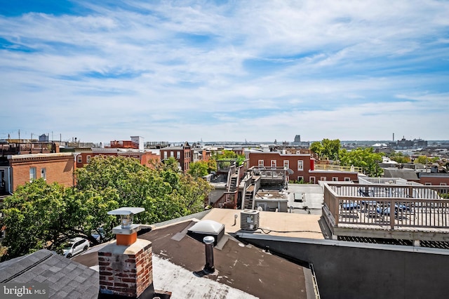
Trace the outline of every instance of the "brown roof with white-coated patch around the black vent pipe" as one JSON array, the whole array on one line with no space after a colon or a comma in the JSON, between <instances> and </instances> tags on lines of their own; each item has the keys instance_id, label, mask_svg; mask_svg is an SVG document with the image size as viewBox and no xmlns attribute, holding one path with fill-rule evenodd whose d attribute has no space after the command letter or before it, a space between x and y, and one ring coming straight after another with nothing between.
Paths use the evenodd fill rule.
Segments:
<instances>
[{"instance_id":1,"label":"brown roof with white-coated patch around the black vent pipe","mask_svg":"<svg viewBox=\"0 0 449 299\"><path fill-rule=\"evenodd\" d=\"M229 215L234 217L234 213ZM172 292L172 298L315 298L308 268L229 234L214 248L215 272L206 274L202 271L205 246L187 234L194 223L196 220L185 220L154 227L139 236L152 241L154 288ZM95 269L101 246L104 244L73 260Z\"/></svg>"}]
</instances>

